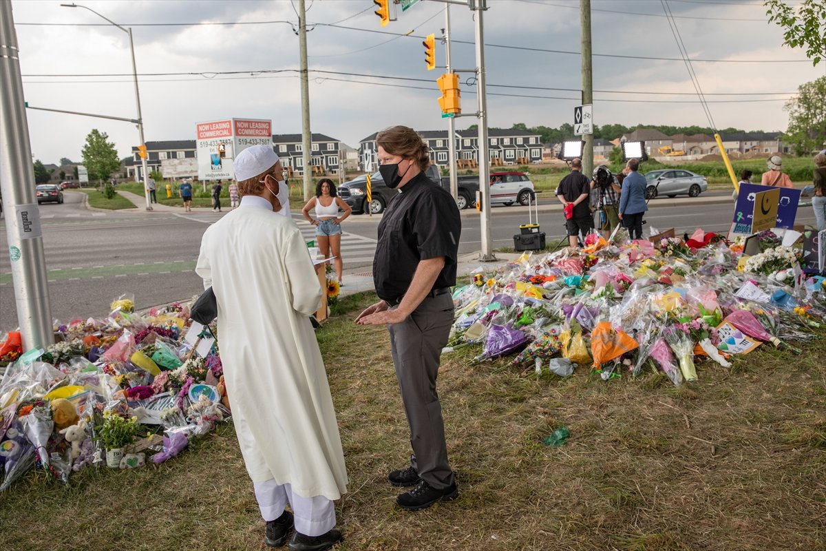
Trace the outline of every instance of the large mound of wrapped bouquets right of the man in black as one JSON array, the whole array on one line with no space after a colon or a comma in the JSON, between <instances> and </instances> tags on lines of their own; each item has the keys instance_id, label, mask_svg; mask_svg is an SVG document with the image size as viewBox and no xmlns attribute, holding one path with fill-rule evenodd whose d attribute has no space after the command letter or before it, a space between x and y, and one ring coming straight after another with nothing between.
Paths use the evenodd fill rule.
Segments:
<instances>
[{"instance_id":1,"label":"large mound of wrapped bouquets right of the man in black","mask_svg":"<svg viewBox=\"0 0 826 551\"><path fill-rule=\"evenodd\" d=\"M805 343L823 326L826 280L805 276L800 249L774 233L758 240L763 251L746 257L742 243L703 230L691 246L618 231L611 240L589 236L582 252L479 268L453 292L449 349L480 347L476 362L513 356L497 370L540 373L563 357L608 379L650 366L675 384L700 377L697 366L728 368L763 343L800 353L790 341Z\"/></svg>"}]
</instances>

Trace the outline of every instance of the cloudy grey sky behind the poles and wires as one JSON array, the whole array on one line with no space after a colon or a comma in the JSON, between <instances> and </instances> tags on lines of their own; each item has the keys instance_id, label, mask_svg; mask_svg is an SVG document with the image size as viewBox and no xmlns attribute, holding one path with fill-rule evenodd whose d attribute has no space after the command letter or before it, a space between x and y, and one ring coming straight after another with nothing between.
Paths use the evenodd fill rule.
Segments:
<instances>
[{"instance_id":1,"label":"cloudy grey sky behind the poles and wires","mask_svg":"<svg viewBox=\"0 0 826 551\"><path fill-rule=\"evenodd\" d=\"M489 125L572 122L582 88L578 0L488 2ZM192 140L197 122L233 116L271 119L278 134L301 132L298 0L81 3L132 26L146 140ZM758 0L665 3L696 59L718 128L785 130L784 100L826 74L826 63L814 68L802 51L782 46L781 30L767 23ZM313 131L358 147L393 124L446 128L435 84L441 70L425 69L421 45L427 34L441 35L444 3L422 0L406 12L398 7L397 21L383 28L371 0L306 5ZM31 106L135 117L126 33L54 0L13 0L12 6ZM662 0L591 1L597 124L708 126L664 9ZM450 17L453 66L472 69L472 12L453 6ZM437 60L444 64L440 44ZM462 85L464 112L475 112L471 84ZM108 133L121 157L138 143L126 122L31 109L27 115L32 154L45 163L79 160L93 128ZM458 119L457 127L473 122Z\"/></svg>"}]
</instances>

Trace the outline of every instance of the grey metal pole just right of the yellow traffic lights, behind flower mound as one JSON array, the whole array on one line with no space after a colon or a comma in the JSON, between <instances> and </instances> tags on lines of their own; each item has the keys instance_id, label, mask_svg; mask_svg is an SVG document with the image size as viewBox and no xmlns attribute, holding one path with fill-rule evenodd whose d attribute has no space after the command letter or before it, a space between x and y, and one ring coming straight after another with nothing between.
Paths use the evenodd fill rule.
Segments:
<instances>
[{"instance_id":1,"label":"grey metal pole just right of the yellow traffic lights, behind flower mound","mask_svg":"<svg viewBox=\"0 0 826 551\"><path fill-rule=\"evenodd\" d=\"M479 102L479 190L482 196L480 221L482 223L482 253L479 259L483 262L496 260L493 255L491 240L491 159L488 157L487 140L487 92L485 88L485 38L482 26L482 14L487 10L487 0L471 2L471 9L476 12L476 70L477 70L477 99ZM453 136L450 136L453 140Z\"/></svg>"}]
</instances>

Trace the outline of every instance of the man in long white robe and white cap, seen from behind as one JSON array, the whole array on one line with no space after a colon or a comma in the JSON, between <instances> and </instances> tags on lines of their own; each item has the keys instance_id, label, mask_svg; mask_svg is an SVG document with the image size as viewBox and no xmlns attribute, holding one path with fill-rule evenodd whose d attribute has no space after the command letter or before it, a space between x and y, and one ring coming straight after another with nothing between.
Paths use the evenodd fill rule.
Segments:
<instances>
[{"instance_id":1,"label":"man in long white robe and white cap, seen from behind","mask_svg":"<svg viewBox=\"0 0 826 551\"><path fill-rule=\"evenodd\" d=\"M256 145L234 169L240 207L207 228L195 271L216 296L235 432L267 521L265 542L283 545L294 522L289 549L330 549L342 539L333 500L346 492L347 473L309 318L321 287L301 231L278 214L278 155Z\"/></svg>"}]
</instances>

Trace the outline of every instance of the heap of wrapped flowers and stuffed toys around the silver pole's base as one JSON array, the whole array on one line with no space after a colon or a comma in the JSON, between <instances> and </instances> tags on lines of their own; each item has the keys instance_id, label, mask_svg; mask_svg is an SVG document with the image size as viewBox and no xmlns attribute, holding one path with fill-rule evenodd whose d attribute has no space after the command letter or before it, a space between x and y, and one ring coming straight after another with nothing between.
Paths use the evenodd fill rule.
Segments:
<instances>
[{"instance_id":1,"label":"heap of wrapped flowers and stuffed toys around the silver pole's base","mask_svg":"<svg viewBox=\"0 0 826 551\"><path fill-rule=\"evenodd\" d=\"M0 380L0 491L32 468L69 482L103 464L139 468L180 453L230 416L211 331L192 327L179 303L135 312L131 297L103 320L55 325L56 344L23 350Z\"/></svg>"}]
</instances>

